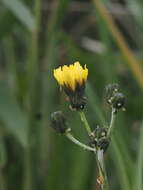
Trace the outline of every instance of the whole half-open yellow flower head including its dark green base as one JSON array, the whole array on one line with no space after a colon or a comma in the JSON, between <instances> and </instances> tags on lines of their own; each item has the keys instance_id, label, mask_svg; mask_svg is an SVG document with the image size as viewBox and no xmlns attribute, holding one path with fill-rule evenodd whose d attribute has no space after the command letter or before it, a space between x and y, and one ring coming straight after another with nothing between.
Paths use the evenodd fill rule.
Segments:
<instances>
[{"instance_id":1,"label":"whole half-open yellow flower head including its dark green base","mask_svg":"<svg viewBox=\"0 0 143 190\"><path fill-rule=\"evenodd\" d=\"M81 110L86 104L84 89L87 76L86 65L83 68L79 62L54 69L54 77L68 95L70 107L74 110Z\"/></svg>"}]
</instances>

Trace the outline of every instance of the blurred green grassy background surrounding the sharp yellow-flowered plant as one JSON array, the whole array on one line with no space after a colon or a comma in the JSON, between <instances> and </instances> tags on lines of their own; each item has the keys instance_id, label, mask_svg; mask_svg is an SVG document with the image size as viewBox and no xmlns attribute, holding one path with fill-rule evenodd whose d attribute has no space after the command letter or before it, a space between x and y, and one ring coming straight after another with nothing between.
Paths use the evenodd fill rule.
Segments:
<instances>
[{"instance_id":1,"label":"blurred green grassy background surrounding the sharp yellow-flowered plant","mask_svg":"<svg viewBox=\"0 0 143 190\"><path fill-rule=\"evenodd\" d=\"M49 127L63 110L89 141L53 78L75 61L89 69L92 129L110 121L105 85L126 95L105 155L110 189L143 189L142 10L142 0L0 0L0 190L98 190L94 155Z\"/></svg>"}]
</instances>

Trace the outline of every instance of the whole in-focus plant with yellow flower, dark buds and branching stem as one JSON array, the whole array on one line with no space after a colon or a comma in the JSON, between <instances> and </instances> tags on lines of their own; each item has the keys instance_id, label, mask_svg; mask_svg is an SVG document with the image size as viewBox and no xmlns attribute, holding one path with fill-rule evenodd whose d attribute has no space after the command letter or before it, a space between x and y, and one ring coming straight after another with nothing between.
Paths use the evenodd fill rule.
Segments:
<instances>
[{"instance_id":1,"label":"whole in-focus plant with yellow flower, dark buds and branching stem","mask_svg":"<svg viewBox=\"0 0 143 190\"><path fill-rule=\"evenodd\" d=\"M109 126L97 126L91 129L85 113L83 112L87 99L85 97L85 87L88 77L88 69L86 65L82 67L79 62L75 62L69 66L64 65L54 70L54 77L58 84L64 90L68 97L70 109L77 111L83 126L89 136L88 145L77 140L69 127L62 111L51 114L51 126L60 134L65 135L69 140L83 148L84 150L94 153L99 175L97 177L97 185L100 189L108 189L108 180L104 166L104 155L108 150L110 141L112 140L112 131L118 111L125 110L125 97L121 92L118 84L109 84L105 88L105 100L111 107L111 120Z\"/></svg>"}]
</instances>

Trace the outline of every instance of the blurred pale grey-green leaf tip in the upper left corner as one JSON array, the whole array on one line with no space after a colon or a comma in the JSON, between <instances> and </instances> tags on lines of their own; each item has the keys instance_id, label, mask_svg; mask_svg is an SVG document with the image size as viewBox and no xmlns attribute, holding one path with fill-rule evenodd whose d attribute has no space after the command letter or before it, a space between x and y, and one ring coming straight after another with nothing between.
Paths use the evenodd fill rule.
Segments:
<instances>
[{"instance_id":1,"label":"blurred pale grey-green leaf tip in the upper left corner","mask_svg":"<svg viewBox=\"0 0 143 190\"><path fill-rule=\"evenodd\" d=\"M30 9L20 0L2 0L4 6L9 9L28 30L35 29L35 20Z\"/></svg>"}]
</instances>

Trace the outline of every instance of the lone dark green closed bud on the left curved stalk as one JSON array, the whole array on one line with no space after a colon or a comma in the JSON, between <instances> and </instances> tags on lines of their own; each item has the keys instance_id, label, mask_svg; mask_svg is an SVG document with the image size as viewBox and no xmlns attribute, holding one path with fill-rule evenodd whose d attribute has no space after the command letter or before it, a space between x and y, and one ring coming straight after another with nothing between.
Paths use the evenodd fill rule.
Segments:
<instances>
[{"instance_id":1,"label":"lone dark green closed bud on the left curved stalk","mask_svg":"<svg viewBox=\"0 0 143 190\"><path fill-rule=\"evenodd\" d=\"M56 111L51 114L51 127L60 134L66 133L68 125L62 111Z\"/></svg>"}]
</instances>

